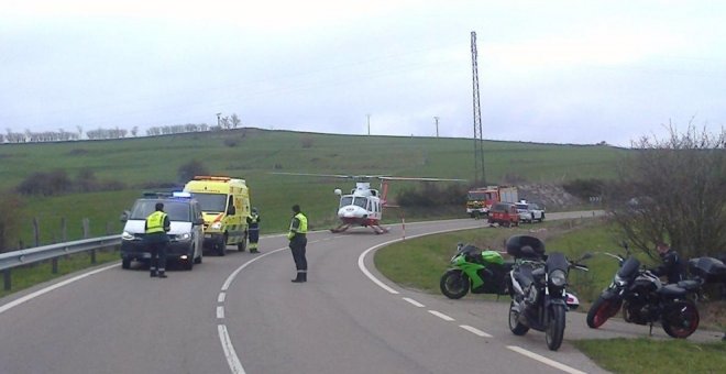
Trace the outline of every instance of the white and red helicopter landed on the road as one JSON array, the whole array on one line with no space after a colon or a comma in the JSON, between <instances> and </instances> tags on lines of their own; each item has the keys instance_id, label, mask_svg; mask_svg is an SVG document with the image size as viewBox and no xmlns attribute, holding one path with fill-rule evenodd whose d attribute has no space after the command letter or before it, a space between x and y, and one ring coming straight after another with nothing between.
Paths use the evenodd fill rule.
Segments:
<instances>
[{"instance_id":1,"label":"white and red helicopter landed on the road","mask_svg":"<svg viewBox=\"0 0 726 374\"><path fill-rule=\"evenodd\" d=\"M343 232L351 227L360 226L371 228L376 234L388 232L381 226L383 208L396 207L388 205L388 180L420 180L420 182L464 182L464 179L427 178L427 177L394 177L386 175L338 175L338 174L307 174L307 173L274 173L283 175L302 175L315 177L353 179L355 188L350 194L343 194L340 188L334 194L340 197L338 218L341 223L330 229L331 232ZM381 180L381 189L371 188L371 180Z\"/></svg>"}]
</instances>

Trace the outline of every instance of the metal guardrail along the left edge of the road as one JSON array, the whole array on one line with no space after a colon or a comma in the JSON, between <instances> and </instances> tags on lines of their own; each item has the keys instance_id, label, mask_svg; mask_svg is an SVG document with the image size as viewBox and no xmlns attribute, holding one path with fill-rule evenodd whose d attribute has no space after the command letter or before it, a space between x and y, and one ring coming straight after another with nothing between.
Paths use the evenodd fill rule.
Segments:
<instances>
[{"instance_id":1,"label":"metal guardrail along the left edge of the road","mask_svg":"<svg viewBox=\"0 0 726 374\"><path fill-rule=\"evenodd\" d=\"M53 273L57 272L57 258L67 254L100 250L121 245L121 235L82 239L73 242L35 246L26 250L0 253L0 271L4 277L4 289L10 290L10 270L42 261L53 260ZM95 254L95 253L94 253ZM95 256L91 258L95 262Z\"/></svg>"}]
</instances>

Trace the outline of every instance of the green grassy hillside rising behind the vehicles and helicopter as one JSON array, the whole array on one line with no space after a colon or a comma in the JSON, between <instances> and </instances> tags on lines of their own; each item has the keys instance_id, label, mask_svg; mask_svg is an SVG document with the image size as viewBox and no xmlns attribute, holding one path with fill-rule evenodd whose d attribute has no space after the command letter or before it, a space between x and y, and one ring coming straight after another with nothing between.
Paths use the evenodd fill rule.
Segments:
<instances>
[{"instance_id":1,"label":"green grassy hillside rising behind the vehicles and helicopter","mask_svg":"<svg viewBox=\"0 0 726 374\"><path fill-rule=\"evenodd\" d=\"M0 144L3 178L0 190L10 191L37 172L65 170L76 178L84 169L99 180L122 182L123 190L24 197L23 229L19 240L32 243L31 222L40 222L42 242L59 241L65 218L69 239L80 237L81 219L91 222L91 234L120 232L121 211L146 187L180 183L178 169L200 162L211 174L246 179L252 205L260 208L263 232L285 230L289 207L299 204L314 229L336 223L336 187L350 189L351 180L271 173L371 174L474 179L471 139L366 136L238 129L156 138L65 143ZM505 177L522 183L562 183L576 178L609 178L628 151L604 145L561 145L520 142L484 142L487 180ZM417 183L394 183L389 197ZM428 212L451 217L455 210ZM399 213L387 215L395 220ZM460 216L461 217L461 216ZM416 216L407 219L415 219Z\"/></svg>"}]
</instances>

